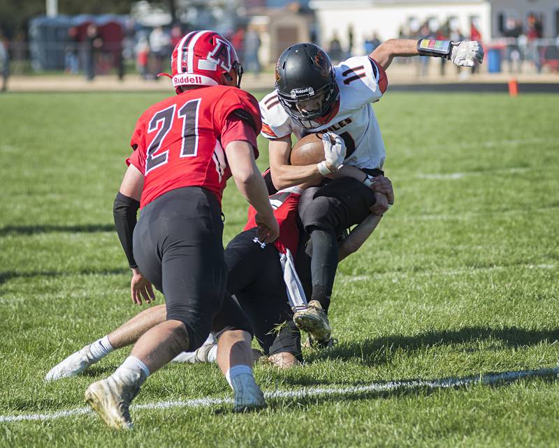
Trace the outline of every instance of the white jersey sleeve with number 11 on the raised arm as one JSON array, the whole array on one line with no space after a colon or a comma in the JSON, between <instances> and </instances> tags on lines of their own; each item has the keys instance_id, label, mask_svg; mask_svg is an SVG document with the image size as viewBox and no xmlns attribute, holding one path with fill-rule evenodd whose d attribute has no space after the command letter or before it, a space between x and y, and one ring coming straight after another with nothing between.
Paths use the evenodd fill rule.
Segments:
<instances>
[{"instance_id":1,"label":"white jersey sleeve with number 11 on the raised arm","mask_svg":"<svg viewBox=\"0 0 559 448\"><path fill-rule=\"evenodd\" d=\"M351 57L335 68L340 89L349 92L351 103L375 103L386 91L386 72L368 56Z\"/></svg>"}]
</instances>

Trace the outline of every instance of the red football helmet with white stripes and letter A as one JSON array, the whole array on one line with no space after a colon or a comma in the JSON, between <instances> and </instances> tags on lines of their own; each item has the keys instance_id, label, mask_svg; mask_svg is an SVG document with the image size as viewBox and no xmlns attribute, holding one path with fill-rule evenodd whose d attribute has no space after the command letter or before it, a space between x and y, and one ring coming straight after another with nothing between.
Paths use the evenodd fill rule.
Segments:
<instances>
[{"instance_id":1,"label":"red football helmet with white stripes and letter A","mask_svg":"<svg viewBox=\"0 0 559 448\"><path fill-rule=\"evenodd\" d=\"M237 76L240 87L242 66L235 47L215 31L192 31L184 36L171 56L171 75L177 94L181 86L215 86Z\"/></svg>"}]
</instances>

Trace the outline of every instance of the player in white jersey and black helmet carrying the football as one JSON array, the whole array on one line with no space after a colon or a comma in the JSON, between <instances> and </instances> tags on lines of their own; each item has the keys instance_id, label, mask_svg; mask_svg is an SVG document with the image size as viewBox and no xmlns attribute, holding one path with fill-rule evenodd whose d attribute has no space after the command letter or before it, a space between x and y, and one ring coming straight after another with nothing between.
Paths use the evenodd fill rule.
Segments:
<instances>
[{"instance_id":1,"label":"player in white jersey and black helmet carrying the football","mask_svg":"<svg viewBox=\"0 0 559 448\"><path fill-rule=\"evenodd\" d=\"M444 57L457 66L473 66L483 61L484 52L474 41L391 39L367 56L351 57L334 67L320 47L300 43L279 57L276 89L260 102L262 134L270 140L273 187L304 182L319 185L307 188L300 201L300 217L310 234L311 244L306 252L312 257L312 292L309 307L294 317L298 327L309 331L319 343L331 339L326 312L337 268L339 235L363 221L370 207L382 214L393 202L393 197L373 193L369 188L375 177L384 174L385 158L384 142L370 103L378 101L386 91L386 69L393 58L417 55ZM326 131L341 139L335 144L324 140L323 162L290 165L291 134L299 139Z\"/></svg>"}]
</instances>

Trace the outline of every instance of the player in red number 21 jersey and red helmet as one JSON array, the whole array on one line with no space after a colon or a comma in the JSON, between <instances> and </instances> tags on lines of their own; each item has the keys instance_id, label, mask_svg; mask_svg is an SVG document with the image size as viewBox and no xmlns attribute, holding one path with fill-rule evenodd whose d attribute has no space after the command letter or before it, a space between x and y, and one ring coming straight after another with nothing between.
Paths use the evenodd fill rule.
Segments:
<instances>
[{"instance_id":1,"label":"player in red number 21 jersey and red helmet","mask_svg":"<svg viewBox=\"0 0 559 448\"><path fill-rule=\"evenodd\" d=\"M138 339L115 373L85 392L113 428L131 428L129 405L147 376L180 352L196 350L212 329L222 332L217 361L235 393L234 410L265 405L252 375L250 324L225 290L221 213L232 175L257 211L259 239L271 242L279 235L254 162L258 103L238 88L242 67L219 33L187 34L171 64L177 96L152 105L138 119L114 207L133 271L132 299L150 301L154 285L164 294L166 321Z\"/></svg>"}]
</instances>

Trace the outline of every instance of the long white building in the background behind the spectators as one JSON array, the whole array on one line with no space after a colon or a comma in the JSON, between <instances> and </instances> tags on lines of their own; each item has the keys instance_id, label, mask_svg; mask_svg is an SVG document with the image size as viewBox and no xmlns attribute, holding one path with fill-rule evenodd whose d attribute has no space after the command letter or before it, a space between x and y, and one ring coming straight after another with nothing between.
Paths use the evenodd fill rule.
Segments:
<instances>
[{"instance_id":1,"label":"long white building in the background behind the spectators","mask_svg":"<svg viewBox=\"0 0 559 448\"><path fill-rule=\"evenodd\" d=\"M352 52L363 52L363 42L376 32L380 40L397 38L400 30L419 27L428 21L432 29L451 20L466 37L470 22L477 24L484 41L502 36L507 17L519 20L525 29L528 15L543 24L543 37L559 34L559 0L311 0L319 25L319 42L328 48L334 36L343 48L349 45L349 29L354 43Z\"/></svg>"}]
</instances>

